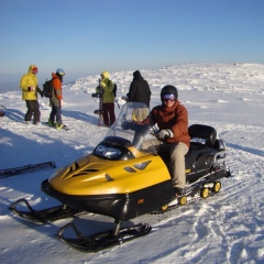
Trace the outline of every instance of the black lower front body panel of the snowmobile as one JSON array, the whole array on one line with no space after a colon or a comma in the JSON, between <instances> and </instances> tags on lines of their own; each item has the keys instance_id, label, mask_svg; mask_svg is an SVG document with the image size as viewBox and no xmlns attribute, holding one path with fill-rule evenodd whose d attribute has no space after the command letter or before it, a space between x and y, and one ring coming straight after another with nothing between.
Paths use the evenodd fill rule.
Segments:
<instances>
[{"instance_id":1,"label":"black lower front body panel of the snowmobile","mask_svg":"<svg viewBox=\"0 0 264 264\"><path fill-rule=\"evenodd\" d=\"M69 207L121 221L156 210L175 199L170 179L130 194L66 195L53 189L47 179L42 183L42 190Z\"/></svg>"}]
</instances>

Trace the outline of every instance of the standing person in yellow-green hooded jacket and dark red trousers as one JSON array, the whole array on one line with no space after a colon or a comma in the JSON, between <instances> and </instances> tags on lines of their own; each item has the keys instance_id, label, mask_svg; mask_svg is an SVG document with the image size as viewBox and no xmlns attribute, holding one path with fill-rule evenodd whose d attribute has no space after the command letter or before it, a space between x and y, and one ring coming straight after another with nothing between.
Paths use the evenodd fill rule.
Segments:
<instances>
[{"instance_id":1,"label":"standing person in yellow-green hooded jacket and dark red trousers","mask_svg":"<svg viewBox=\"0 0 264 264\"><path fill-rule=\"evenodd\" d=\"M99 86L96 91L99 92L102 89L102 119L107 127L111 127L116 121L114 114L114 95L113 95L113 82L109 79L110 75L108 72L100 74Z\"/></svg>"}]
</instances>

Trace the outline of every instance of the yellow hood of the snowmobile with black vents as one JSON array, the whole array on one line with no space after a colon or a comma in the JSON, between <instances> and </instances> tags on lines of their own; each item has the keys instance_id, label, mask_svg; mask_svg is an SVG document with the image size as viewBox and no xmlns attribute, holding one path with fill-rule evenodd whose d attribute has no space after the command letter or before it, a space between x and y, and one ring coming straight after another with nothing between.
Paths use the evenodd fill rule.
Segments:
<instances>
[{"instance_id":1,"label":"yellow hood of the snowmobile with black vents","mask_svg":"<svg viewBox=\"0 0 264 264\"><path fill-rule=\"evenodd\" d=\"M88 155L59 169L50 185L76 196L129 194L170 179L160 156L145 155L129 161L108 161Z\"/></svg>"}]
</instances>

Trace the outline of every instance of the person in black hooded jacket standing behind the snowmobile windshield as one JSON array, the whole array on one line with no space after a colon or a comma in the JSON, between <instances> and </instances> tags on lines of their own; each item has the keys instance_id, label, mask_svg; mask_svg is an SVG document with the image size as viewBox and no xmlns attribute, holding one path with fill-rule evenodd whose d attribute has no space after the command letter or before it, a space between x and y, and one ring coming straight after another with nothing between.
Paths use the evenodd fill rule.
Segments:
<instances>
[{"instance_id":1,"label":"person in black hooded jacket standing behind the snowmobile windshield","mask_svg":"<svg viewBox=\"0 0 264 264\"><path fill-rule=\"evenodd\" d=\"M141 76L140 70L133 73L133 80L128 92L128 101L144 102L150 108L151 88L148 82ZM148 114L147 108L134 109L138 121L143 121Z\"/></svg>"}]
</instances>

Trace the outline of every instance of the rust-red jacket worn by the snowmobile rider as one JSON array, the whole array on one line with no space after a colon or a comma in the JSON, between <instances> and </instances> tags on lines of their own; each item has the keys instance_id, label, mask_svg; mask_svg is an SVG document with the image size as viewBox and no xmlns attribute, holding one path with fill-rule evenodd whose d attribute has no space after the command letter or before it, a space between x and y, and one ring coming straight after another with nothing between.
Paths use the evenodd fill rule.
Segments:
<instances>
[{"instance_id":1,"label":"rust-red jacket worn by the snowmobile rider","mask_svg":"<svg viewBox=\"0 0 264 264\"><path fill-rule=\"evenodd\" d=\"M177 100L173 107L157 106L152 109L153 124L157 123L160 130L169 129L174 138L167 139L167 143L183 142L189 147L188 112Z\"/></svg>"}]
</instances>

